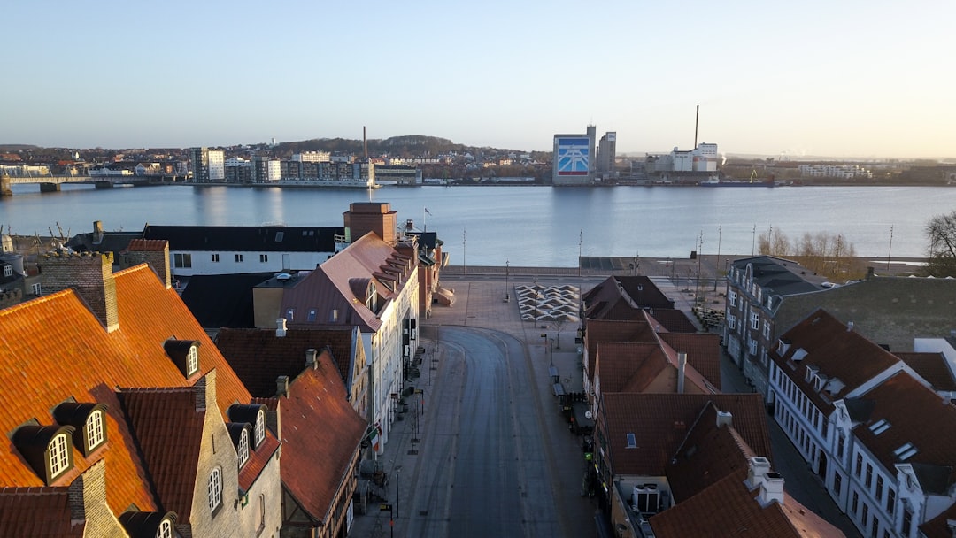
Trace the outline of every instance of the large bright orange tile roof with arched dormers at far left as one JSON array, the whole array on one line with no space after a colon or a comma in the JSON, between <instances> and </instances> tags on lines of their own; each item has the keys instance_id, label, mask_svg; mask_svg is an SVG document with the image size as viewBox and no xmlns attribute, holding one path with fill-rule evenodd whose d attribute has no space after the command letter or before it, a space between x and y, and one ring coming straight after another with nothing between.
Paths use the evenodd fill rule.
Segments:
<instances>
[{"instance_id":1,"label":"large bright orange tile roof with arched dormers at far left","mask_svg":"<svg viewBox=\"0 0 956 538\"><path fill-rule=\"evenodd\" d=\"M248 402L239 378L174 290L166 290L146 265L116 273L120 329L106 333L76 291L59 291L0 310L0 386L16 387L0 413L0 430L26 420L53 423L50 410L66 398L103 401L107 446L89 459L74 450L76 468L57 484L68 484L104 459L107 502L114 513L131 504L157 509L132 435L114 390L127 387L183 387L185 379L163 351L170 337L200 342L200 375L217 371L217 403L225 417L234 402ZM20 453L0 451L0 487L42 485Z\"/></svg>"}]
</instances>

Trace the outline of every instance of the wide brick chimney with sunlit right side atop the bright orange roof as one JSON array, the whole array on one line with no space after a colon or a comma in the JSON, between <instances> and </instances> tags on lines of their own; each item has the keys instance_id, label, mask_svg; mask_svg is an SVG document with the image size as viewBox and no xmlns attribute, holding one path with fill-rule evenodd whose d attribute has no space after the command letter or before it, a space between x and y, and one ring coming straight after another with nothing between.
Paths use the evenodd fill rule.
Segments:
<instances>
[{"instance_id":1,"label":"wide brick chimney with sunlit right side atop the bright orange roof","mask_svg":"<svg viewBox=\"0 0 956 538\"><path fill-rule=\"evenodd\" d=\"M73 288L107 333L120 328L113 254L54 252L41 257L38 265L45 294Z\"/></svg>"}]
</instances>

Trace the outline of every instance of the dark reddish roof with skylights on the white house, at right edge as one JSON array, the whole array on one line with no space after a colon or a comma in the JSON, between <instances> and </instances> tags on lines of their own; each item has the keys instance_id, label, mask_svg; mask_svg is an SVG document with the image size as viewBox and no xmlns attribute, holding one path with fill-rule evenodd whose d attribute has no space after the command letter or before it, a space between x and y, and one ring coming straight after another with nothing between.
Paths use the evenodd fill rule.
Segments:
<instances>
[{"instance_id":1,"label":"dark reddish roof with skylights on the white house, at right edge","mask_svg":"<svg viewBox=\"0 0 956 538\"><path fill-rule=\"evenodd\" d=\"M853 433L885 468L893 470L897 463L946 467L945 484L956 483L956 406L905 372L886 379L860 399L872 402L873 411L870 420ZM889 427L876 434L869 426L879 420ZM907 442L916 452L901 459L897 451ZM932 489L931 484L922 485Z\"/></svg>"}]
</instances>

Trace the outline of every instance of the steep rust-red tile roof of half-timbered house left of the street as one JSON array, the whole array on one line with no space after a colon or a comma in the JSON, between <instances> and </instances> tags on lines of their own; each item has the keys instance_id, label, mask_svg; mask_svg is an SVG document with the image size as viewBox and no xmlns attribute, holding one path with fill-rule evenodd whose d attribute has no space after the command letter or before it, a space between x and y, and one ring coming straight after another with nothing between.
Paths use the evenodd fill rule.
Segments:
<instances>
[{"instance_id":1,"label":"steep rust-red tile roof of half-timbered house left of the street","mask_svg":"<svg viewBox=\"0 0 956 538\"><path fill-rule=\"evenodd\" d=\"M325 524L339 487L351 476L368 422L348 402L328 353L293 379L289 393L279 398L282 484L310 517Z\"/></svg>"}]
</instances>

